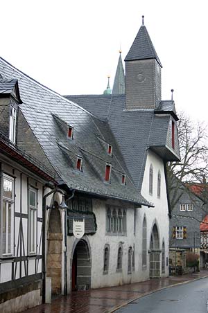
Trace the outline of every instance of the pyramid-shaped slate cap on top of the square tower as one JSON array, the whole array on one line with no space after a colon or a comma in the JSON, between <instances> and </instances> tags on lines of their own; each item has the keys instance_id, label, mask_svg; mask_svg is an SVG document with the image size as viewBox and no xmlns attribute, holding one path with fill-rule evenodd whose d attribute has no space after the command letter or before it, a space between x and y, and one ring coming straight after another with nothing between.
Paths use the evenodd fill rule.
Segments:
<instances>
[{"instance_id":1,"label":"pyramid-shaped slate cap on top of the square tower","mask_svg":"<svg viewBox=\"0 0 208 313\"><path fill-rule=\"evenodd\" d=\"M159 57L150 39L150 35L144 25L139 28L139 32L125 57L125 61L155 59L162 67Z\"/></svg>"}]
</instances>

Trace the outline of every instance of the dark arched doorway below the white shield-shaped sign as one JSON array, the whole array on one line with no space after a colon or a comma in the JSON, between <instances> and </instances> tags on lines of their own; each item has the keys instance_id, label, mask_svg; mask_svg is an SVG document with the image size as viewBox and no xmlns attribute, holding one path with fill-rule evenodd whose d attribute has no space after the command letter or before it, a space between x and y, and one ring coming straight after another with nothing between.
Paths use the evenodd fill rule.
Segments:
<instances>
[{"instance_id":1,"label":"dark arched doorway below the white shield-shaped sign","mask_svg":"<svg viewBox=\"0 0 208 313\"><path fill-rule=\"evenodd\" d=\"M91 285L91 257L85 240L79 240L73 251L71 290L89 289Z\"/></svg>"}]
</instances>

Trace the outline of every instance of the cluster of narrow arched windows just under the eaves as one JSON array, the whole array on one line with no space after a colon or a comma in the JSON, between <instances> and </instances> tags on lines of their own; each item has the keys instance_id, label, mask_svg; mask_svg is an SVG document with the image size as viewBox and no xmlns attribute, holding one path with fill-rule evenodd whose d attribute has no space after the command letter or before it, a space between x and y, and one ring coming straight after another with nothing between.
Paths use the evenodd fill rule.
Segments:
<instances>
[{"instance_id":1,"label":"cluster of narrow arched windows just under the eaves","mask_svg":"<svg viewBox=\"0 0 208 313\"><path fill-rule=\"evenodd\" d=\"M106 208L106 232L108 235L120 235L126 233L125 209L114 206Z\"/></svg>"}]
</instances>

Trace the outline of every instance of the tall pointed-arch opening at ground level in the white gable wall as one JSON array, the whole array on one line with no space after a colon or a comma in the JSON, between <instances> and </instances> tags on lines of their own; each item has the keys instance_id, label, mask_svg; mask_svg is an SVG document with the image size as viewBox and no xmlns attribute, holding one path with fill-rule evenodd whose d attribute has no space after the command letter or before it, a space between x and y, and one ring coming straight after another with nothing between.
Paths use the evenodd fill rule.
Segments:
<instances>
[{"instance_id":1,"label":"tall pointed-arch opening at ground level in the white gable wall","mask_svg":"<svg viewBox=\"0 0 208 313\"><path fill-rule=\"evenodd\" d=\"M159 234L157 225L154 224L150 237L150 278L160 277Z\"/></svg>"}]
</instances>

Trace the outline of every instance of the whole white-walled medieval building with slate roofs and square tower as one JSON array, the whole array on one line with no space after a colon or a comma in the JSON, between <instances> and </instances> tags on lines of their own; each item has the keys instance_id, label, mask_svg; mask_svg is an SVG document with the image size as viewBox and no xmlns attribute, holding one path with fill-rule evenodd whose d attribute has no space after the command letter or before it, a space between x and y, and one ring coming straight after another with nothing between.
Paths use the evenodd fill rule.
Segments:
<instances>
[{"instance_id":1,"label":"whole white-walled medieval building with slate roofs and square tower","mask_svg":"<svg viewBox=\"0 0 208 313\"><path fill-rule=\"evenodd\" d=\"M17 143L55 172L40 194L43 298L47 277L53 294L67 294L168 276L166 162L180 159L177 115L161 99L162 64L144 24L125 77L121 63L112 94L64 97L0 59L3 80L19 84Z\"/></svg>"}]
</instances>

